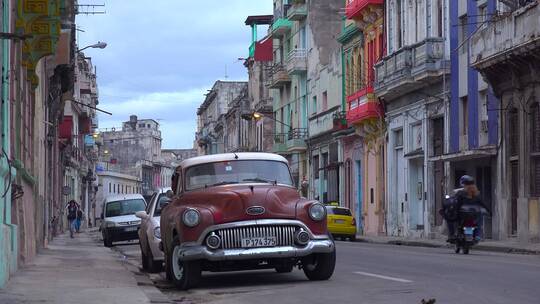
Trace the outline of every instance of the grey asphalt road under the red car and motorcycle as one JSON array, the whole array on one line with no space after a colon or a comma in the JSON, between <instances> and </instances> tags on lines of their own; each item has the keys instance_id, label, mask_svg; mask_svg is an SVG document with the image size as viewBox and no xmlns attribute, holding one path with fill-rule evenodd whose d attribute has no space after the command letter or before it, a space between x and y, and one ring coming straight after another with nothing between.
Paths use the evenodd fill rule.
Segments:
<instances>
[{"instance_id":1,"label":"grey asphalt road under the red car and motorcycle","mask_svg":"<svg viewBox=\"0 0 540 304\"><path fill-rule=\"evenodd\" d=\"M139 261L138 243L116 246ZM184 292L164 274L151 279L176 303L540 303L540 256L472 250L337 242L329 281L310 282L300 270L203 273Z\"/></svg>"}]
</instances>

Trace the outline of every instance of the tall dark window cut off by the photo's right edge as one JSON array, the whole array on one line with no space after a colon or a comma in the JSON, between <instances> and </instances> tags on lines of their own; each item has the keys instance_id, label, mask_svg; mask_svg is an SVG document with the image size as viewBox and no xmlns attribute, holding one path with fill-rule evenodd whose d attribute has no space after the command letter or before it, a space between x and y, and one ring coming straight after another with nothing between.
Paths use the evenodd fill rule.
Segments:
<instances>
[{"instance_id":1,"label":"tall dark window cut off by the photo's right edge","mask_svg":"<svg viewBox=\"0 0 540 304\"><path fill-rule=\"evenodd\" d=\"M531 196L540 197L540 106L538 102L529 108L529 138L531 154Z\"/></svg>"}]
</instances>

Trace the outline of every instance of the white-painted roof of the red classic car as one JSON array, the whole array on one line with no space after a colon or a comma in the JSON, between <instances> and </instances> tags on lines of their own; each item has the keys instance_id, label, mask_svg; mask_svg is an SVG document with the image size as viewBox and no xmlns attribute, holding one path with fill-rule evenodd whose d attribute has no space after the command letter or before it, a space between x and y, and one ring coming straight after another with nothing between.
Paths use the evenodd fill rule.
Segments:
<instances>
[{"instance_id":1,"label":"white-painted roof of the red classic car","mask_svg":"<svg viewBox=\"0 0 540 304\"><path fill-rule=\"evenodd\" d=\"M264 152L222 153L188 158L180 163L180 167L188 168L195 165L235 160L271 160L288 164L281 155Z\"/></svg>"}]
</instances>

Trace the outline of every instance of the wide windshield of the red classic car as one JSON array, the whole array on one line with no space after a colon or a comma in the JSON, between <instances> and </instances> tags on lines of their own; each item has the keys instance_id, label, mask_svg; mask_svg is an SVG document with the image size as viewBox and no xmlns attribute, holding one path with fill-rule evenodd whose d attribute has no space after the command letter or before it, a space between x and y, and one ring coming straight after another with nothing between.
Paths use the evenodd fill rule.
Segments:
<instances>
[{"instance_id":1,"label":"wide windshield of the red classic car","mask_svg":"<svg viewBox=\"0 0 540 304\"><path fill-rule=\"evenodd\" d=\"M272 183L292 186L287 164L271 160L235 160L206 163L186 170L186 190L236 184Z\"/></svg>"}]
</instances>

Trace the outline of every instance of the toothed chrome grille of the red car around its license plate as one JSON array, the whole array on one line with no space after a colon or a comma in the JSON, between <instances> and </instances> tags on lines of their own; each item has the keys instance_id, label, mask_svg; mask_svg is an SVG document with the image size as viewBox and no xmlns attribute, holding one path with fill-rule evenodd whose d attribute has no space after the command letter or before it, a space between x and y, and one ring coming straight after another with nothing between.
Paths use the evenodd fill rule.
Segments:
<instances>
[{"instance_id":1,"label":"toothed chrome grille of the red car around its license plate","mask_svg":"<svg viewBox=\"0 0 540 304\"><path fill-rule=\"evenodd\" d=\"M221 237L221 248L234 249L242 247L243 238L267 236L276 238L276 246L292 246L296 229L298 227L294 225L265 225L219 229L214 232Z\"/></svg>"}]
</instances>

